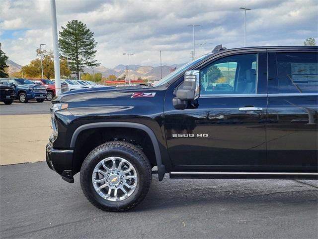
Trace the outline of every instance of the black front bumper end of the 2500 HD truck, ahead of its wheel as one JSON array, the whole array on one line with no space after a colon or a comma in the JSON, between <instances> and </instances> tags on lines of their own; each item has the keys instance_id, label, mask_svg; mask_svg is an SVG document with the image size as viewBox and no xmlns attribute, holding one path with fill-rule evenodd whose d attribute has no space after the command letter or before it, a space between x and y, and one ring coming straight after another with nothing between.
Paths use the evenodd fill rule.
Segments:
<instances>
[{"instance_id":1,"label":"black front bumper end of the 2500 HD truck, ahead of its wheel","mask_svg":"<svg viewBox=\"0 0 318 239\"><path fill-rule=\"evenodd\" d=\"M55 149L50 144L46 145L46 162L50 169L62 176L62 179L74 183L72 165L73 149Z\"/></svg>"}]
</instances>

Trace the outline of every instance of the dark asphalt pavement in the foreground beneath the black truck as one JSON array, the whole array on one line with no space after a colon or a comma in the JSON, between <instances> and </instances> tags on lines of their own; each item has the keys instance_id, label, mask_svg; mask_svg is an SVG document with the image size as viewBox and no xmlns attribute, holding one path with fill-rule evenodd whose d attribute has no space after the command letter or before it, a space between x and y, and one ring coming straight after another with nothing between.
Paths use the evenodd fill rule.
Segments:
<instances>
[{"instance_id":1,"label":"dark asphalt pavement in the foreground beneath the black truck","mask_svg":"<svg viewBox=\"0 0 318 239\"><path fill-rule=\"evenodd\" d=\"M103 212L45 162L0 167L1 238L297 238L318 236L312 180L162 182L135 209Z\"/></svg>"}]
</instances>

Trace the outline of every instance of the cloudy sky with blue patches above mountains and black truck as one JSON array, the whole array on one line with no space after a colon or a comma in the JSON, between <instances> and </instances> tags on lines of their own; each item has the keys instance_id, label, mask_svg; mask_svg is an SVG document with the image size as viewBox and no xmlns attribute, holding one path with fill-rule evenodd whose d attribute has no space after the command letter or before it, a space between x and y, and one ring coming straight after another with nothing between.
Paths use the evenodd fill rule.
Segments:
<instances>
[{"instance_id":1,"label":"cloudy sky with blue patches above mountains and black truck","mask_svg":"<svg viewBox=\"0 0 318 239\"><path fill-rule=\"evenodd\" d=\"M26 65L39 44L53 49L50 0L0 0L0 42L10 60ZM215 45L303 45L318 41L318 0L56 0L58 31L77 19L94 32L96 60L158 66L189 62L195 42L205 53ZM196 45L196 57L203 47Z\"/></svg>"}]
</instances>

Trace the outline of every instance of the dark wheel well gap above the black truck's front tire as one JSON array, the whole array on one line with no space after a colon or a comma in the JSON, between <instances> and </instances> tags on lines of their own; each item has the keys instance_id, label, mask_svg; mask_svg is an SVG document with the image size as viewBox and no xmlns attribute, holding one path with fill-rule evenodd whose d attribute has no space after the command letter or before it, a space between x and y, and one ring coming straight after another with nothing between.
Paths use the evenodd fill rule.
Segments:
<instances>
[{"instance_id":1,"label":"dark wheel well gap above the black truck's front tire","mask_svg":"<svg viewBox=\"0 0 318 239\"><path fill-rule=\"evenodd\" d=\"M73 157L73 175L80 171L80 167L90 151L104 142L115 140L135 144L146 154L152 167L157 165L153 142L144 130L129 127L91 128L81 131L77 137Z\"/></svg>"}]
</instances>

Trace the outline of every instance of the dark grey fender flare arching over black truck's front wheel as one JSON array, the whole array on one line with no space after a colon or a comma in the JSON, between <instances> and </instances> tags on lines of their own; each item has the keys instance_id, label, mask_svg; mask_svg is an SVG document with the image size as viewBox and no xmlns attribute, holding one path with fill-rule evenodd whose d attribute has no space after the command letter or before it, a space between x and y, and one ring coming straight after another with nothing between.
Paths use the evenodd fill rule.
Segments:
<instances>
[{"instance_id":1,"label":"dark grey fender flare arching over black truck's front wheel","mask_svg":"<svg viewBox=\"0 0 318 239\"><path fill-rule=\"evenodd\" d=\"M143 131L145 131L148 136L150 137L153 145L154 145L154 150L155 150L155 156L156 156L156 161L157 161L157 167L158 167L158 176L159 176L159 181L162 181L164 174L165 174L165 166L162 164L162 159L161 159L161 153L160 153L160 148L159 148L159 143L158 139L154 133L154 131L141 123L134 123L134 122L95 122L95 123L86 123L81 126L79 126L73 133L71 143L70 143L70 148L75 147L76 140L79 136L79 133L85 129L90 129L90 128L104 128L104 127L127 127L127 128L138 128Z\"/></svg>"}]
</instances>

